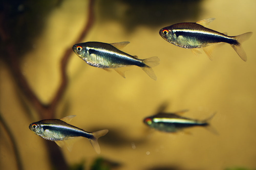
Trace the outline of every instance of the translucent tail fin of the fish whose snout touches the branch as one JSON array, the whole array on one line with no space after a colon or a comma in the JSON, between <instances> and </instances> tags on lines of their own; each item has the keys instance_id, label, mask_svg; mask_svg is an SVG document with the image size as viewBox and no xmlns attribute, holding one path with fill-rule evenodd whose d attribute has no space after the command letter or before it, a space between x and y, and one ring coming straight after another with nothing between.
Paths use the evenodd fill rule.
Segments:
<instances>
[{"instance_id":1,"label":"translucent tail fin of the fish whose snout touches the branch","mask_svg":"<svg viewBox=\"0 0 256 170\"><path fill-rule=\"evenodd\" d=\"M142 60L142 62L145 64L142 67L142 70L147 73L153 80L156 80L156 75L152 69L152 67L155 67L159 64L160 59L158 57L150 57Z\"/></svg>"}]
</instances>

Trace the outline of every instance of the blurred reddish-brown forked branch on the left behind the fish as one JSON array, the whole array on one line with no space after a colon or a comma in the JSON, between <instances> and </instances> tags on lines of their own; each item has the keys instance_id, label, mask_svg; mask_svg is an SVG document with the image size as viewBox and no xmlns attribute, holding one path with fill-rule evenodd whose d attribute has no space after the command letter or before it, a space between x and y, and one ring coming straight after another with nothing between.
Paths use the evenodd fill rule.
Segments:
<instances>
[{"instance_id":1,"label":"blurred reddish-brown forked branch on the left behind the fish","mask_svg":"<svg viewBox=\"0 0 256 170\"><path fill-rule=\"evenodd\" d=\"M28 100L28 102L35 108L37 111L39 117L41 119L53 119L55 118L56 114L56 108L66 90L67 84L68 84L68 79L67 79L67 64L69 61L69 58L72 53L72 46L73 44L79 43L82 41L82 39L88 34L93 21L94 21L94 1L90 0L89 1L89 6L88 6L88 21L85 24L83 30L81 31L79 37L75 41L75 43L70 44L70 47L65 50L65 53L61 57L61 64L60 64L60 72L61 72L61 83L59 85L59 88L56 91L55 96L53 99L47 103L44 104L41 102L41 100L37 97L35 92L32 90L30 87L26 77L22 74L22 70L20 68L20 56L19 56L19 51L16 51L17 49L15 47L15 43L9 39L10 34L12 32L8 31L8 28L4 28L4 12L1 13L0 17L0 33L1 33L1 41L2 44L5 44L5 49L2 56L2 58L6 61L7 65L9 66L9 70L12 73L14 80L17 84L17 87L20 89L20 91L23 93L25 98ZM13 146L15 146L14 141ZM48 153L49 153L49 158L51 160L52 165L56 169L67 169L67 163L61 153L61 150L59 147L51 141L46 141ZM15 148L14 148L15 149ZM18 162L18 160L17 160Z\"/></svg>"}]
</instances>

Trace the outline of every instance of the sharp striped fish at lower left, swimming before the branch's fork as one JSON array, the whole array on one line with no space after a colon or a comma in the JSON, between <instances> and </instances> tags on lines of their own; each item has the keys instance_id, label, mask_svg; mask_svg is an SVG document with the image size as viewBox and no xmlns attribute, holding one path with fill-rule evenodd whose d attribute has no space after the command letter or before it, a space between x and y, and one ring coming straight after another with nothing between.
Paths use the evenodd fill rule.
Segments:
<instances>
[{"instance_id":1,"label":"sharp striped fish at lower left, swimming before the branch's fork","mask_svg":"<svg viewBox=\"0 0 256 170\"><path fill-rule=\"evenodd\" d=\"M100 153L98 138L108 133L108 129L99 130L97 132L86 132L76 126L68 124L76 115L63 117L62 119L45 119L31 123L29 129L36 135L51 141L55 141L58 146L67 146L70 151L74 140L78 137L86 137L89 139L95 151Z\"/></svg>"}]
</instances>

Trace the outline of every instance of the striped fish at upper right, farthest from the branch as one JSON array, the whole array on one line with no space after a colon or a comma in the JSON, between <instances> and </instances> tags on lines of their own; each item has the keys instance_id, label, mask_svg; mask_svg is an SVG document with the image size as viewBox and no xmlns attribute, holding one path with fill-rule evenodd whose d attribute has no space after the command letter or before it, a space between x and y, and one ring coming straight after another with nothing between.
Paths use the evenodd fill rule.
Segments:
<instances>
[{"instance_id":1,"label":"striped fish at upper right, farthest from the branch","mask_svg":"<svg viewBox=\"0 0 256 170\"><path fill-rule=\"evenodd\" d=\"M252 32L228 36L226 32L220 33L206 28L213 20L215 18L207 18L198 22L173 24L162 28L159 34L169 43L182 48L192 49L194 54L200 53L197 48L202 48L210 60L212 60L212 52L215 48L228 43L243 61L247 61L246 53L241 44L250 38Z\"/></svg>"}]
</instances>

